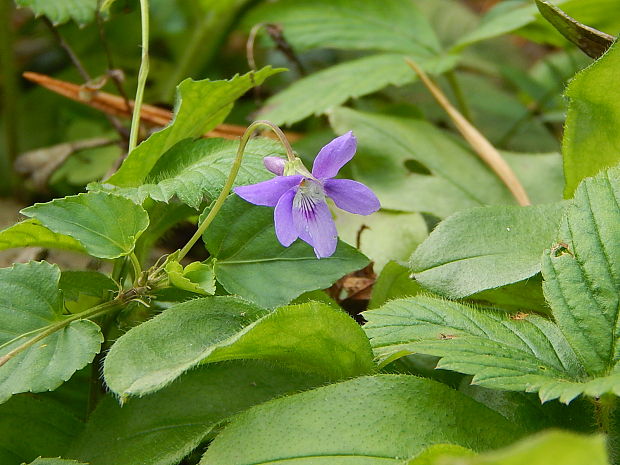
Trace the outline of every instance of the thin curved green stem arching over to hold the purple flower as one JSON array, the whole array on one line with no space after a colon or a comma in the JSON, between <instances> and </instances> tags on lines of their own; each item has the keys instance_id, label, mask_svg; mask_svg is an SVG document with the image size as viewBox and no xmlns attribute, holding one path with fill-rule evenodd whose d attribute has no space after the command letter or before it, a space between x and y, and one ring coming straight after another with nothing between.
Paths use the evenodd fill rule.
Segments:
<instances>
[{"instance_id":1,"label":"thin curved green stem arching over to hold the purple flower","mask_svg":"<svg viewBox=\"0 0 620 465\"><path fill-rule=\"evenodd\" d=\"M293 147L291 147L291 143L288 141L288 139L284 135L284 132L282 132L282 130L278 126L273 124L271 121L267 121L267 120L254 121L252 124L250 124L248 128L245 130L245 132L243 133L243 136L241 136L241 140L239 141L239 148L237 149L237 157L235 158L233 166L230 169L230 174L228 175L226 184L224 184L224 187L222 188L222 192L220 192L219 197L215 201L215 204L211 208L211 211L209 212L207 217L204 219L202 224L198 226L198 230L196 231L196 233L191 237L191 239L187 242L187 244L185 244L185 246L179 251L179 254L176 256L177 261L181 261L181 259L185 257L185 255L187 255L190 249L194 246L194 244L198 241L198 239L200 239L200 237L207 230L207 228L209 227L209 225L211 224L215 216L219 213L220 209L222 208L222 205L224 204L224 201L226 200L226 197L228 197L228 194L230 193L230 190L232 189L232 186L235 182L237 174L239 173L239 168L241 168L241 162L243 161L243 153L245 150L245 146L248 144L248 141L252 137L254 130L260 126L267 126L268 128L270 128L276 134L276 136L278 137L278 139L284 146L284 149L286 150L286 156L288 157L289 161L291 162L295 161L295 152L293 151ZM164 264L161 265L161 267L164 267L165 265L166 265L166 262L164 262Z\"/></svg>"}]
</instances>

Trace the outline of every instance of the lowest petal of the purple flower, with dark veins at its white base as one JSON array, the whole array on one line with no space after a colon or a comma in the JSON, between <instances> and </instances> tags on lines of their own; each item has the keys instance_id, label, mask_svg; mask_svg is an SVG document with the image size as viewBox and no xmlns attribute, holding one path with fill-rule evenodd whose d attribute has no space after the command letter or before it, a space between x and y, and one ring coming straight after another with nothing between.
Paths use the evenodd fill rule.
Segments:
<instances>
[{"instance_id":1,"label":"lowest petal of the purple flower, with dark veins at its white base","mask_svg":"<svg viewBox=\"0 0 620 465\"><path fill-rule=\"evenodd\" d=\"M311 203L308 208L293 204L293 223L299 237L314 248L317 258L329 257L336 251L338 232L324 201Z\"/></svg>"}]
</instances>

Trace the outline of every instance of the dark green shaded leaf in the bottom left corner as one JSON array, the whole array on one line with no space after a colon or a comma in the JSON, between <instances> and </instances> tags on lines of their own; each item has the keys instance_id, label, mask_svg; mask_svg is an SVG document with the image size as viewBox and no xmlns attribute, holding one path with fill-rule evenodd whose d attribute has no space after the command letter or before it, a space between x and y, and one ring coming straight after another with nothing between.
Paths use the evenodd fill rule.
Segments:
<instances>
[{"instance_id":1,"label":"dark green shaded leaf in the bottom left corner","mask_svg":"<svg viewBox=\"0 0 620 465\"><path fill-rule=\"evenodd\" d=\"M64 455L83 427L49 394L14 396L0 405L0 463L21 465L41 455Z\"/></svg>"}]
</instances>

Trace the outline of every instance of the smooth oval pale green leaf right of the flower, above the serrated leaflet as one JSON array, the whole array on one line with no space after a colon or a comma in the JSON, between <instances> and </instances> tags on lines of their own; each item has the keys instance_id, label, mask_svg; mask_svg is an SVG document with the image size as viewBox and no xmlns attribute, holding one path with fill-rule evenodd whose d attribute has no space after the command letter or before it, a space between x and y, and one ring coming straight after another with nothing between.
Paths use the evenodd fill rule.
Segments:
<instances>
[{"instance_id":1,"label":"smooth oval pale green leaf right of the flower, above the serrated leaflet","mask_svg":"<svg viewBox=\"0 0 620 465\"><path fill-rule=\"evenodd\" d=\"M416 280L450 298L516 283L540 272L563 203L491 206L455 213L411 256Z\"/></svg>"}]
</instances>

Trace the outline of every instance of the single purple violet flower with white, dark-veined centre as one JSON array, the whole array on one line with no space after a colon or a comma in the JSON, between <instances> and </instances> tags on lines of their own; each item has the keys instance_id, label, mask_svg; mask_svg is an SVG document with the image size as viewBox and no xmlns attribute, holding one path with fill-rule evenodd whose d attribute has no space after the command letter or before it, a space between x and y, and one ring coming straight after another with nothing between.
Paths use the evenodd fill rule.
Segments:
<instances>
[{"instance_id":1,"label":"single purple violet flower with white, dark-veined centre","mask_svg":"<svg viewBox=\"0 0 620 465\"><path fill-rule=\"evenodd\" d=\"M370 215L381 205L364 184L350 179L333 179L355 154L357 140L353 132L335 138L321 149L310 173L299 159L265 157L265 167L277 176L268 181L235 188L242 199L255 205L275 207L276 236L284 247L297 238L314 248L318 258L331 256L338 233L326 197L343 210Z\"/></svg>"}]
</instances>

